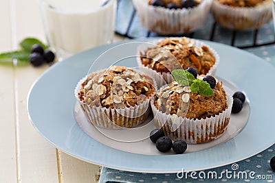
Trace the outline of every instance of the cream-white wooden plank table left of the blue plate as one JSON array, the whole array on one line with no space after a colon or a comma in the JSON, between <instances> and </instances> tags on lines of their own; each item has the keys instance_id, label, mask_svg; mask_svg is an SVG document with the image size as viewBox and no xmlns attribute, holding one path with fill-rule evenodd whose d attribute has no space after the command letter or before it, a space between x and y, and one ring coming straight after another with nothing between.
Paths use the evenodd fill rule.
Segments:
<instances>
[{"instance_id":1,"label":"cream-white wooden plank table left of the blue plate","mask_svg":"<svg viewBox=\"0 0 275 183\"><path fill-rule=\"evenodd\" d=\"M40 15L36 0L0 0L0 52L28 36L45 42ZM28 119L28 91L47 68L0 64L0 182L95 182L97 165L56 149Z\"/></svg>"}]
</instances>

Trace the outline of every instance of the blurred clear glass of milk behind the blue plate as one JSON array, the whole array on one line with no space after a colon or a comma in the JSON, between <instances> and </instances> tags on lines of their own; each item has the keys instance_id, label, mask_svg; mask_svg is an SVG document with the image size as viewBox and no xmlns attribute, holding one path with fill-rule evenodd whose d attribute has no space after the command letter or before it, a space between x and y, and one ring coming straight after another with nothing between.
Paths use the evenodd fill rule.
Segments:
<instances>
[{"instance_id":1,"label":"blurred clear glass of milk behind the blue plate","mask_svg":"<svg viewBox=\"0 0 275 183\"><path fill-rule=\"evenodd\" d=\"M59 59L113 40L116 0L40 0L40 7Z\"/></svg>"}]
</instances>

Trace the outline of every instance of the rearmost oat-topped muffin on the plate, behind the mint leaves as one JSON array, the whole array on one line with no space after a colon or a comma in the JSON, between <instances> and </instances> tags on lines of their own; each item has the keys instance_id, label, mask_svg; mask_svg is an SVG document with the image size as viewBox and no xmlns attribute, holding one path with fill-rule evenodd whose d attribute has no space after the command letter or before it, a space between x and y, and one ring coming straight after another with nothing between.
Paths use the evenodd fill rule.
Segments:
<instances>
[{"instance_id":1,"label":"rearmost oat-topped muffin on the plate, behind the mint leaves","mask_svg":"<svg viewBox=\"0 0 275 183\"><path fill-rule=\"evenodd\" d=\"M214 75L219 64L219 55L214 49L186 37L154 40L141 45L137 51L140 55L137 64L146 67L144 72L154 75L158 87L173 82L170 72L175 69L193 67L199 75Z\"/></svg>"}]
</instances>

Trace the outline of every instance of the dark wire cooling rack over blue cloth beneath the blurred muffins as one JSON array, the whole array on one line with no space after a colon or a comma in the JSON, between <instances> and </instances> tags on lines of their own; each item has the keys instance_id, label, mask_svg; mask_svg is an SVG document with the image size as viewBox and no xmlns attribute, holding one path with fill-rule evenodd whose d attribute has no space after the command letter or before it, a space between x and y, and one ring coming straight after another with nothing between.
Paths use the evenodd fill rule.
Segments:
<instances>
[{"instance_id":1,"label":"dark wire cooling rack over blue cloth beneath the blurred muffins","mask_svg":"<svg viewBox=\"0 0 275 183\"><path fill-rule=\"evenodd\" d=\"M140 19L136 13L131 0L118 0L118 10L116 17L115 32L127 38L141 38L159 36L142 27ZM173 35L167 35L173 36ZM273 21L263 25L260 29L251 29L249 31L234 31L220 27L209 14L208 21L202 29L189 34L177 36L187 36L189 38L198 38L203 40L212 40L221 42L241 49L261 47L275 44L275 33Z\"/></svg>"}]
</instances>

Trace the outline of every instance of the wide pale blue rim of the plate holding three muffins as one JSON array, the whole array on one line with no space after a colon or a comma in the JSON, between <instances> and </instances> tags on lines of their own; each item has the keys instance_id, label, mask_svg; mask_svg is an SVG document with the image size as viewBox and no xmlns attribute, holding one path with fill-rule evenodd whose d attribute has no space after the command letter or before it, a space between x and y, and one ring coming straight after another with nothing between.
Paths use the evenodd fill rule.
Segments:
<instances>
[{"instance_id":1,"label":"wide pale blue rim of the plate holding three muffins","mask_svg":"<svg viewBox=\"0 0 275 183\"><path fill-rule=\"evenodd\" d=\"M61 151L87 162L126 171L175 173L181 169L210 169L258 154L275 142L275 68L241 49L203 42L221 57L217 75L232 82L239 90L244 90L250 99L247 125L226 143L188 154L142 155L113 149L83 132L74 117L76 83L87 74L91 63L101 53L125 41L78 53L45 71L28 95L30 120L36 130ZM128 47L123 51L135 54L136 48ZM102 65L111 64L112 58L105 60Z\"/></svg>"}]
</instances>

